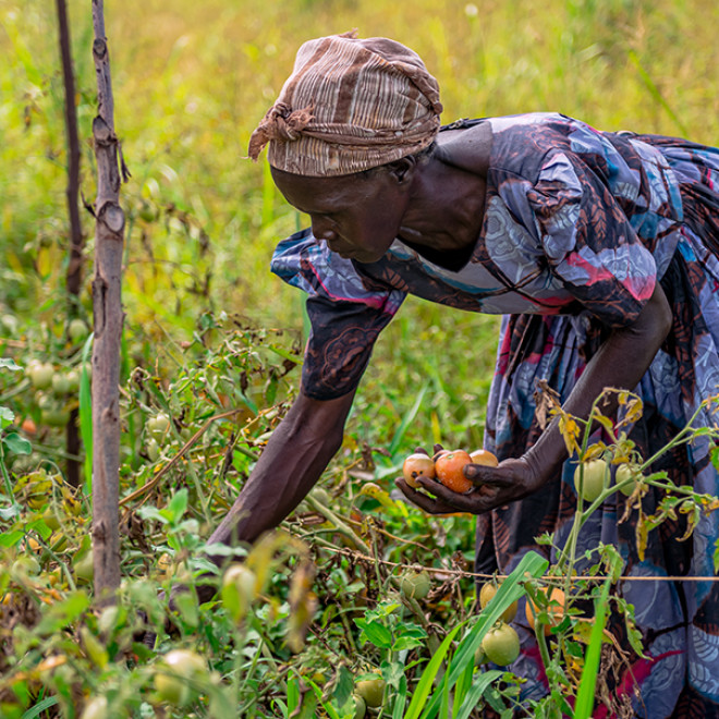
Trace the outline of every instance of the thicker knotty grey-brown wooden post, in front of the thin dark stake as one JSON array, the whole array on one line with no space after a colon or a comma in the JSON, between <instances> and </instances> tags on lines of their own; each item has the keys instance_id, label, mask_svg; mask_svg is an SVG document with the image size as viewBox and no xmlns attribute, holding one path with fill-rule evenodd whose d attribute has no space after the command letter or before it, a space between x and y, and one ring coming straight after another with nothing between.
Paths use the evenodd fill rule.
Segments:
<instances>
[{"instance_id":1,"label":"thicker knotty grey-brown wooden post, in front of the thin dark stake","mask_svg":"<svg viewBox=\"0 0 719 719\"><path fill-rule=\"evenodd\" d=\"M120 207L120 153L114 134L110 57L102 0L93 0L98 113L93 121L97 159L93 313L93 563L95 597L111 604L120 586L118 527L120 466L120 338L122 245L125 217Z\"/></svg>"}]
</instances>

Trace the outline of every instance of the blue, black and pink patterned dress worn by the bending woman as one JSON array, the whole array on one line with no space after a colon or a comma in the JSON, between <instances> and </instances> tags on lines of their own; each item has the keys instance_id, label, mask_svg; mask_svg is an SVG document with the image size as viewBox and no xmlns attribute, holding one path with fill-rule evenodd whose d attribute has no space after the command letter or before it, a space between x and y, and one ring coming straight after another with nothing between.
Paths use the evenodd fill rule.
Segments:
<instances>
[{"instance_id":1,"label":"blue, black and pink patterned dress worn by the bending woman","mask_svg":"<svg viewBox=\"0 0 719 719\"><path fill-rule=\"evenodd\" d=\"M430 260L399 240L369 265L339 257L309 231L279 244L273 271L309 295L305 391L331 399L356 387L407 294L502 314L485 447L500 460L520 456L541 432L537 382L566 400L608 332L632 322L660 282L673 325L636 388L644 414L631 434L651 456L719 392L719 150L599 132L553 113L450 127L477 122L490 123L493 142L483 230L463 266ZM716 419L703 413L697 424ZM718 495L710 449L708 440L681 446L654 470ZM546 552L534 541L545 532L565 540L576 505L574 466L568 461L535 495L478 517L477 571L509 572L527 550ZM649 491L644 511L660 499ZM607 501L582 543L617 546L625 576L714 575L719 514L703 516L687 541L678 541L683 515L665 522L639 559L636 516L619 523L621 509ZM618 696L650 719L719 717L719 585L623 581L620 592L635 607L647 657L634 657L617 678ZM512 669L528 680L524 695L538 698L546 680L536 644L521 622L517 629L523 649Z\"/></svg>"}]
</instances>

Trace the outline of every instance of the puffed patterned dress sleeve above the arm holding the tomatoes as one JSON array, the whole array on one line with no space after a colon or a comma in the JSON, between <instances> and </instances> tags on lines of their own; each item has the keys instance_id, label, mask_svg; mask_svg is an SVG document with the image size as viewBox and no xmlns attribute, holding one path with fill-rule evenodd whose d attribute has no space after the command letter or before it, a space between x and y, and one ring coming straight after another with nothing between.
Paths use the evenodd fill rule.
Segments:
<instances>
[{"instance_id":1,"label":"puffed patterned dress sleeve above the arm holding the tomatoes","mask_svg":"<svg viewBox=\"0 0 719 719\"><path fill-rule=\"evenodd\" d=\"M617 198L573 154L550 153L527 192L550 271L609 327L636 319L657 267Z\"/></svg>"}]
</instances>

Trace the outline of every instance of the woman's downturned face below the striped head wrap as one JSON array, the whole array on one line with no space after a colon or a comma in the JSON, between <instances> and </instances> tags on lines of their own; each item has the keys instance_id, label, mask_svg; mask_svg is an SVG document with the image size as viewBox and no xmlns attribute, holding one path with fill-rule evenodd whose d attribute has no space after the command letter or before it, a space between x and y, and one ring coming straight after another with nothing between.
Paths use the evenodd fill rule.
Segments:
<instances>
[{"instance_id":1,"label":"woman's downturned face below the striped head wrap","mask_svg":"<svg viewBox=\"0 0 719 719\"><path fill-rule=\"evenodd\" d=\"M411 174L380 168L369 175L305 178L272 168L284 198L309 215L315 237L360 263L376 263L398 236Z\"/></svg>"}]
</instances>

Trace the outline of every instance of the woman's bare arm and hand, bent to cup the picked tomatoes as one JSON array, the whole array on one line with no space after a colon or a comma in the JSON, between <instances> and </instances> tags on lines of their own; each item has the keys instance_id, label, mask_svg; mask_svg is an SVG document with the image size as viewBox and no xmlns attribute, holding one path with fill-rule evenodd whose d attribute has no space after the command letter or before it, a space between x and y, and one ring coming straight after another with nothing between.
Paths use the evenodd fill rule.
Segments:
<instances>
[{"instance_id":1,"label":"woman's bare arm and hand, bent to cup the picked tomatoes","mask_svg":"<svg viewBox=\"0 0 719 719\"><path fill-rule=\"evenodd\" d=\"M586 418L592 405L606 387L632 390L654 360L671 327L671 310L663 290L656 284L651 297L632 325L614 330L587 364L574 386L564 410ZM538 441L521 458L505 460L496 468L476 464L465 467L465 475L476 487L459 495L432 479L419 484L435 497L416 491L404 479L398 486L415 504L432 514L472 512L482 514L502 507L541 488L557 476L568 458L556 417Z\"/></svg>"}]
</instances>

